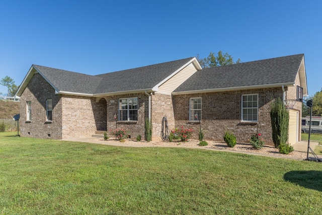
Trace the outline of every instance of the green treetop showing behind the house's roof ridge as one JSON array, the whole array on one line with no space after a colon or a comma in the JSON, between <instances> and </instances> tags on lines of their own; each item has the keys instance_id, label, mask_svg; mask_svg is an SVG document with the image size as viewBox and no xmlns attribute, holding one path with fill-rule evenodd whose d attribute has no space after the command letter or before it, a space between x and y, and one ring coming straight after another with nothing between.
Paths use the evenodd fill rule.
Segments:
<instances>
[{"instance_id":1,"label":"green treetop showing behind the house's roof ridge","mask_svg":"<svg viewBox=\"0 0 322 215\"><path fill-rule=\"evenodd\" d=\"M205 57L205 58L201 58L199 54L197 54L197 59L202 68L230 65L230 64L241 62L239 58L237 59L237 61L234 62L231 55L229 55L227 52L222 53L222 51L218 51L217 56L215 53L210 52L208 57Z\"/></svg>"}]
</instances>

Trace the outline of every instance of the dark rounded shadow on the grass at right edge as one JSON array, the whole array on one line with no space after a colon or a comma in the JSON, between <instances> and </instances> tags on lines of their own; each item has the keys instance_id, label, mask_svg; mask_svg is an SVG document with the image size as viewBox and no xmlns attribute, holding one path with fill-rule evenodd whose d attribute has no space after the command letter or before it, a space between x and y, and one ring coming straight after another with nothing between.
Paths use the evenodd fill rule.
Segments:
<instances>
[{"instance_id":1,"label":"dark rounded shadow on the grass at right edge","mask_svg":"<svg viewBox=\"0 0 322 215\"><path fill-rule=\"evenodd\" d=\"M284 174L284 180L322 192L322 171L290 171Z\"/></svg>"}]
</instances>

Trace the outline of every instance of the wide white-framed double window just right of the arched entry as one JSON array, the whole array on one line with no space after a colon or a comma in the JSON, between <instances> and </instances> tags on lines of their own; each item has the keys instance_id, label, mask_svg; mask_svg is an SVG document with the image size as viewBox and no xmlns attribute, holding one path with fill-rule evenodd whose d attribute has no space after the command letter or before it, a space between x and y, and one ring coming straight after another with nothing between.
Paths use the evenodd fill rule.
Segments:
<instances>
[{"instance_id":1,"label":"wide white-framed double window just right of the arched entry","mask_svg":"<svg viewBox=\"0 0 322 215\"><path fill-rule=\"evenodd\" d=\"M138 100L135 98L119 99L119 120L137 121Z\"/></svg>"}]
</instances>

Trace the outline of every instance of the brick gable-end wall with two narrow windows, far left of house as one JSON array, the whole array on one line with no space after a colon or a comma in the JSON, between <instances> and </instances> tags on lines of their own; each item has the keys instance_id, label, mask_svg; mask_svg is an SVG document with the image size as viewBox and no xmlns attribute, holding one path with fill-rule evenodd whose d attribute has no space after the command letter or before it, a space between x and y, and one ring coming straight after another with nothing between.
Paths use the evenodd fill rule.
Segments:
<instances>
[{"instance_id":1,"label":"brick gable-end wall with two narrow windows, far left of house","mask_svg":"<svg viewBox=\"0 0 322 215\"><path fill-rule=\"evenodd\" d=\"M46 99L52 99L53 121L46 121ZM27 101L31 101L31 120L26 120ZM34 74L20 98L21 136L37 138L62 138L62 103L60 95L38 73ZM50 136L48 135L50 134Z\"/></svg>"}]
</instances>

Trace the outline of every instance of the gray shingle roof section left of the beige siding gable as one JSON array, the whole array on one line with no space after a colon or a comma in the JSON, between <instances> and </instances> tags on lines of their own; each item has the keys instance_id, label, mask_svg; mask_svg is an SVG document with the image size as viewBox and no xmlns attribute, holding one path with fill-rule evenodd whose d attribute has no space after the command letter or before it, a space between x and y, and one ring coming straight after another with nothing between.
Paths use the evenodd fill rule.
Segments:
<instances>
[{"instance_id":1,"label":"gray shingle roof section left of the beige siding gable","mask_svg":"<svg viewBox=\"0 0 322 215\"><path fill-rule=\"evenodd\" d=\"M59 91L100 94L151 89L189 62L193 57L91 76L33 65Z\"/></svg>"}]
</instances>

